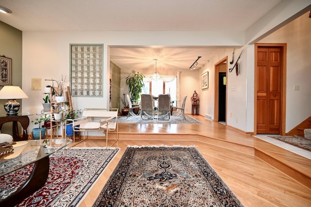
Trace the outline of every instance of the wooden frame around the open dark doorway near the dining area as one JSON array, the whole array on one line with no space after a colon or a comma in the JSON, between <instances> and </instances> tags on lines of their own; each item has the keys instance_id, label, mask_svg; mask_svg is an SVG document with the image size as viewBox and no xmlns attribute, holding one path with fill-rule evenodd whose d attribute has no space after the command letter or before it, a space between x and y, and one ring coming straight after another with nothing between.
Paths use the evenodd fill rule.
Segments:
<instances>
[{"instance_id":1,"label":"wooden frame around the open dark doorway near the dining area","mask_svg":"<svg viewBox=\"0 0 311 207\"><path fill-rule=\"evenodd\" d=\"M226 68L226 74L228 74L228 56L225 56L223 59L221 59L220 61L218 61L216 64L214 64L214 68L215 68L215 73L214 73L214 122L218 122L218 110L219 110L219 90L218 90L218 86L219 86L219 67L217 67L220 64L224 64L225 63L225 68ZM226 75L227 77L227 75ZM227 85L228 85L228 78L227 78ZM227 91L228 89L225 89L225 111L227 111ZM225 125L227 125L227 112L225 113Z\"/></svg>"}]
</instances>

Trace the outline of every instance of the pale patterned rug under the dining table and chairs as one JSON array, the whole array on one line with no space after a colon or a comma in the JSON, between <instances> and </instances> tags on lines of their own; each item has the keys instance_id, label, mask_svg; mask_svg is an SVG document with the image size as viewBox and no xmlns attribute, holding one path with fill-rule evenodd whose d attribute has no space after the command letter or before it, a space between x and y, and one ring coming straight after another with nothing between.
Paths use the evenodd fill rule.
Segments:
<instances>
[{"instance_id":1,"label":"pale patterned rug under the dining table and chairs","mask_svg":"<svg viewBox=\"0 0 311 207\"><path fill-rule=\"evenodd\" d=\"M195 118L185 115L186 120L183 120L182 117L178 117L177 119L175 118L176 115L171 116L171 121L170 122L158 122L156 118L154 119L153 122L142 122L140 121L140 118L135 118L134 116L119 116L119 123L132 123L132 124L202 124Z\"/></svg>"}]
</instances>

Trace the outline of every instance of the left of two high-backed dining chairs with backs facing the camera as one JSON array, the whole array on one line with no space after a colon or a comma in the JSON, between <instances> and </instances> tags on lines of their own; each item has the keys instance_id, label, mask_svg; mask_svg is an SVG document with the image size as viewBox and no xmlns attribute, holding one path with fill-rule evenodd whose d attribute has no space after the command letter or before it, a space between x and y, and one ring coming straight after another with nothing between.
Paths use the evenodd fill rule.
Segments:
<instances>
[{"instance_id":1,"label":"left of two high-backed dining chairs with backs facing the camera","mask_svg":"<svg viewBox=\"0 0 311 207\"><path fill-rule=\"evenodd\" d=\"M152 122L154 120L153 97L151 94L142 94L140 97L140 121Z\"/></svg>"}]
</instances>

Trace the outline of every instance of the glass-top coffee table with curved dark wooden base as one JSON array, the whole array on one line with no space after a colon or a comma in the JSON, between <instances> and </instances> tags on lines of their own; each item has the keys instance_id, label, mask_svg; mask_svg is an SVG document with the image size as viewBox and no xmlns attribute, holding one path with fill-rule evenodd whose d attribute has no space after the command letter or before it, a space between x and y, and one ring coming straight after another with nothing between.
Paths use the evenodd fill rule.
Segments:
<instances>
[{"instance_id":1,"label":"glass-top coffee table with curved dark wooden base","mask_svg":"<svg viewBox=\"0 0 311 207\"><path fill-rule=\"evenodd\" d=\"M17 191L0 201L0 206L16 206L22 200L41 189L48 179L49 156L64 148L71 139L47 139L20 141L13 145L13 152L0 156L0 176L35 163L31 175Z\"/></svg>"}]
</instances>

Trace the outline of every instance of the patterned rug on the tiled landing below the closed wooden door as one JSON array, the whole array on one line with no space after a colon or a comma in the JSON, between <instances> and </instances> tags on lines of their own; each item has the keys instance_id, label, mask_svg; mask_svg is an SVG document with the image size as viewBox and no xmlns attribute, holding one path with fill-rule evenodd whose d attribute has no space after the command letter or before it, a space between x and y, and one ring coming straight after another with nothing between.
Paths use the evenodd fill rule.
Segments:
<instances>
[{"instance_id":1,"label":"patterned rug on the tiled landing below the closed wooden door","mask_svg":"<svg viewBox=\"0 0 311 207\"><path fill-rule=\"evenodd\" d=\"M284 143L288 143L299 147L301 149L305 149L311 152L311 140L300 137L300 136L280 136L280 135L269 135L273 139L282 141Z\"/></svg>"}]
</instances>

